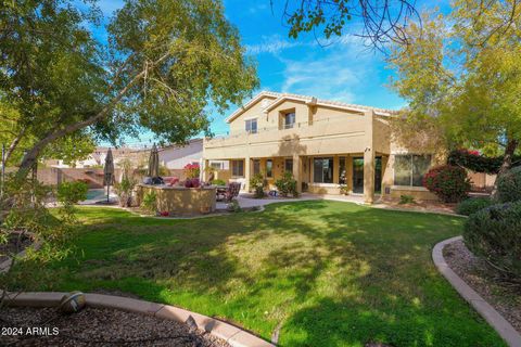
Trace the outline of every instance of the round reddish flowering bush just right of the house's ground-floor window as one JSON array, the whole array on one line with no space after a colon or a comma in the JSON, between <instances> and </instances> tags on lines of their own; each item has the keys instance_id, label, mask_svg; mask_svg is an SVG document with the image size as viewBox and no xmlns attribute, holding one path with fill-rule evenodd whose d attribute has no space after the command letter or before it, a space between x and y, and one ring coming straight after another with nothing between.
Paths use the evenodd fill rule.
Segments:
<instances>
[{"instance_id":1,"label":"round reddish flowering bush just right of the house's ground-floor window","mask_svg":"<svg viewBox=\"0 0 521 347\"><path fill-rule=\"evenodd\" d=\"M470 191L470 179L463 168L442 165L425 174L423 187L445 203L457 203L467 197Z\"/></svg>"}]
</instances>

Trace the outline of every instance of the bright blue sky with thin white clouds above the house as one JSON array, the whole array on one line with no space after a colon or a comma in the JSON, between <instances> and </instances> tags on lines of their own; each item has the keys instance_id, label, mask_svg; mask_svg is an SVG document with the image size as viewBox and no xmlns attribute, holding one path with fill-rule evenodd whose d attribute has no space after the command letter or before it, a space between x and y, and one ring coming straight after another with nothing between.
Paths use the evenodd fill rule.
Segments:
<instances>
[{"instance_id":1,"label":"bright blue sky with thin white clouds above the house","mask_svg":"<svg viewBox=\"0 0 521 347\"><path fill-rule=\"evenodd\" d=\"M385 67L383 54L367 50L356 37L346 34L327 42L327 47L319 44L313 34L290 39L281 17L280 7L284 1L274 0L271 9L269 0L224 0L228 20L239 28L247 54L257 62L259 90L393 110L406 105L386 87L392 70ZM418 3L420 9L427 4L446 5L442 0ZM123 5L123 1L102 0L98 5L109 16ZM97 35L103 37L103 29ZM233 107L228 114L232 111ZM228 130L224 121L226 116L212 112L212 130L216 134Z\"/></svg>"}]
</instances>

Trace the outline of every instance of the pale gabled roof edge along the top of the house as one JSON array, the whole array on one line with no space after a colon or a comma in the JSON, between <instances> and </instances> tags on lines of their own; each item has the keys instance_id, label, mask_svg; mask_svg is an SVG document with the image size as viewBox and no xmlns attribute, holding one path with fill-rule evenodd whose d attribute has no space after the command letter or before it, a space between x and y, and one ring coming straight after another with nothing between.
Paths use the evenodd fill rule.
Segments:
<instances>
[{"instance_id":1,"label":"pale gabled roof edge along the top of the house","mask_svg":"<svg viewBox=\"0 0 521 347\"><path fill-rule=\"evenodd\" d=\"M228 116L225 120L226 123L230 123L240 115L242 115L244 112L250 110L253 105L255 105L257 102L259 102L262 99L268 98L271 99L272 101L263 110L264 113L268 113L269 111L274 110L281 103L283 103L287 100L291 101L301 101L305 102L308 105L317 105L317 106L327 106L327 107L332 107L332 108L339 108L339 110L346 110L346 111L354 111L354 112L365 112L372 110L374 111L374 114L379 116L391 116L396 114L396 111L392 110L386 110L386 108L378 108L378 107L371 107L371 106L364 106L364 105L356 105L356 104L348 104L345 102L340 102L340 101L331 101L331 100L322 100L322 99L317 99L315 97L310 95L301 95L301 94L292 94L292 93L279 93L275 91L267 91L264 90L259 92L255 98L246 102L244 105L241 107L237 108L230 116Z\"/></svg>"}]
</instances>

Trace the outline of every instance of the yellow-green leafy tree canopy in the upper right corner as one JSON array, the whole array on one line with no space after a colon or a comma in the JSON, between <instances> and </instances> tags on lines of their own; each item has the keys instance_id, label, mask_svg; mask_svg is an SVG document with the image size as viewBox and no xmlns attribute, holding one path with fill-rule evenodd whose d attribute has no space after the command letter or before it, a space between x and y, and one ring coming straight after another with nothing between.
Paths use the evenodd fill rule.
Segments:
<instances>
[{"instance_id":1,"label":"yellow-green leafy tree canopy in the upper right corner","mask_svg":"<svg viewBox=\"0 0 521 347\"><path fill-rule=\"evenodd\" d=\"M404 121L434 126L448 146L499 151L503 174L521 140L521 5L456 0L447 15L412 25L390 59Z\"/></svg>"}]
</instances>

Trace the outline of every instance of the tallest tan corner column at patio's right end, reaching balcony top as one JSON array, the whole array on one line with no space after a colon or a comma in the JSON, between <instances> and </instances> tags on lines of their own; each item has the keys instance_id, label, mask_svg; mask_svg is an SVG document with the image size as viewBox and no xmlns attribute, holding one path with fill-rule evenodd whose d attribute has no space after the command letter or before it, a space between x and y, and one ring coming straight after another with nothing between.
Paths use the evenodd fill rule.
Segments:
<instances>
[{"instance_id":1,"label":"tallest tan corner column at patio's right end, reaching balcony top","mask_svg":"<svg viewBox=\"0 0 521 347\"><path fill-rule=\"evenodd\" d=\"M374 201L374 138L372 121L374 112L366 111L365 149L364 149L364 202L372 204Z\"/></svg>"}]
</instances>

